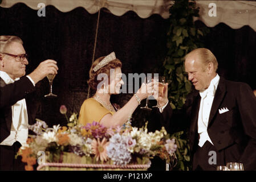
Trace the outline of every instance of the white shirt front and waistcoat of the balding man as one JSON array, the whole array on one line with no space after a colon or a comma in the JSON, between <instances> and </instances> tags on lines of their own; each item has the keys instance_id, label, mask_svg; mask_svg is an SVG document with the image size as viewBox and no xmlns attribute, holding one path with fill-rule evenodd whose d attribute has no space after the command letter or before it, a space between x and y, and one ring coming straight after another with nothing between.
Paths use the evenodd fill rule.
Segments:
<instances>
[{"instance_id":1,"label":"white shirt front and waistcoat of the balding man","mask_svg":"<svg viewBox=\"0 0 256 182\"><path fill-rule=\"evenodd\" d=\"M207 131L210 111L213 105L214 95L216 93L216 89L218 83L220 81L220 76L218 74L213 80L210 82L209 87L206 90L200 91L201 102L200 109L198 113L198 134L200 135L198 146L204 146L204 143L208 140L213 144L210 139Z\"/></svg>"}]
</instances>

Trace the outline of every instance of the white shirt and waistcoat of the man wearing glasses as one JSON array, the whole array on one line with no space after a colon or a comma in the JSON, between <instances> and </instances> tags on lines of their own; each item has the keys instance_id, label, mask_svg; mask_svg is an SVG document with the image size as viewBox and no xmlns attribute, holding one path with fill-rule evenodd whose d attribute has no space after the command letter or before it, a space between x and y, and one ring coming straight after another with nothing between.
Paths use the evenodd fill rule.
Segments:
<instances>
[{"instance_id":1,"label":"white shirt and waistcoat of the man wearing glasses","mask_svg":"<svg viewBox=\"0 0 256 182\"><path fill-rule=\"evenodd\" d=\"M14 81L19 80L16 78L13 80L6 72L0 71L0 77L5 81L6 84L11 84ZM32 84L35 86L34 81L27 76ZM23 98L16 102L13 106L11 106L11 111L13 113L12 119L13 122L11 123L11 132L9 137L3 140L0 144L6 146L12 146L14 142L18 141L22 145L26 143L27 137L29 134L28 124L29 118L27 116L27 105L26 100Z\"/></svg>"}]
</instances>

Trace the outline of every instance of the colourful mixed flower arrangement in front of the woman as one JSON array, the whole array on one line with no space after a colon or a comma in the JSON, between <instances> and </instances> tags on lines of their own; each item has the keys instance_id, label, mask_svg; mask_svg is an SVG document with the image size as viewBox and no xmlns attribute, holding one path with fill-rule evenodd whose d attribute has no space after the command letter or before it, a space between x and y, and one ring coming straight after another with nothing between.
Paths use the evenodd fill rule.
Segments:
<instances>
[{"instance_id":1,"label":"colourful mixed flower arrangement in front of the woman","mask_svg":"<svg viewBox=\"0 0 256 182\"><path fill-rule=\"evenodd\" d=\"M67 118L65 106L60 107L60 113ZM119 167L147 164L149 167L149 159L156 155L169 162L170 155L177 148L164 127L148 133L147 125L138 129L129 121L125 127L107 128L99 122L80 126L75 113L68 119L67 126L49 128L44 121L36 119L29 129L36 135L30 135L27 144L17 154L22 156L22 162L27 163L26 170L33 169L40 151L45 152L47 163L111 164Z\"/></svg>"}]
</instances>

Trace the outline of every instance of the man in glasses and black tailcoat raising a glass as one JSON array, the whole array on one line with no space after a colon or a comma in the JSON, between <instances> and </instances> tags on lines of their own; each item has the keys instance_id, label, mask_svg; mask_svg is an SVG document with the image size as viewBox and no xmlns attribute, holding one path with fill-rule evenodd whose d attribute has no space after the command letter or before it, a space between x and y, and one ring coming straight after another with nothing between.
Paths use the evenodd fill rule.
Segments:
<instances>
[{"instance_id":1,"label":"man in glasses and black tailcoat raising a glass","mask_svg":"<svg viewBox=\"0 0 256 182\"><path fill-rule=\"evenodd\" d=\"M28 124L34 122L34 105L28 100L35 84L48 74L57 74L56 61L46 60L29 75L23 42L17 36L0 36L0 170L24 170L19 147L26 143Z\"/></svg>"}]
</instances>

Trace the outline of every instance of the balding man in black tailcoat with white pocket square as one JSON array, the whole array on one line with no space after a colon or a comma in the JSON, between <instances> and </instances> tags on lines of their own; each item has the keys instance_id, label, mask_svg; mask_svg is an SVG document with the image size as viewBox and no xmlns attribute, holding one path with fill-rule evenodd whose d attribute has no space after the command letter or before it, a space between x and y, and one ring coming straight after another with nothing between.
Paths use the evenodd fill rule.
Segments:
<instances>
[{"instance_id":1,"label":"balding man in black tailcoat with white pocket square","mask_svg":"<svg viewBox=\"0 0 256 182\"><path fill-rule=\"evenodd\" d=\"M170 129L189 127L193 170L216 170L228 162L256 170L256 98L250 86L225 80L206 48L185 56L185 71L195 90L188 94L181 115L167 105L162 118ZM160 118L161 119L161 118ZM181 123L184 122L184 123Z\"/></svg>"}]
</instances>

